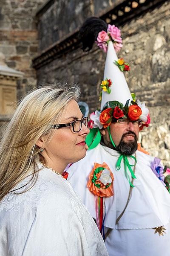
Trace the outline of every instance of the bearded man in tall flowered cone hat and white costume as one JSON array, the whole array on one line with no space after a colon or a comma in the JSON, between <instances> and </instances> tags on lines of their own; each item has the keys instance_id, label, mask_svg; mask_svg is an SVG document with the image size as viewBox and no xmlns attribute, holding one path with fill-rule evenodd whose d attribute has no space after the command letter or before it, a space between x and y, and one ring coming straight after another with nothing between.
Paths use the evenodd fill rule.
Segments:
<instances>
[{"instance_id":1,"label":"bearded man in tall flowered cone hat and white costume","mask_svg":"<svg viewBox=\"0 0 170 256\"><path fill-rule=\"evenodd\" d=\"M159 160L137 150L149 111L130 95L114 47L120 33L112 40L113 29L102 30L110 39L105 42L101 111L90 116L87 155L68 169L68 179L95 219L109 256L169 256L168 184ZM107 38L102 33L100 39Z\"/></svg>"}]
</instances>

